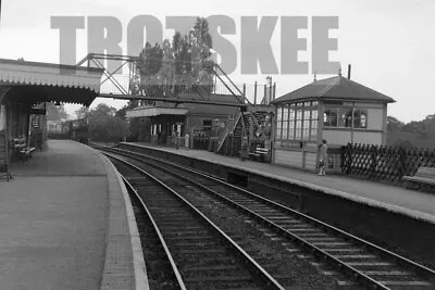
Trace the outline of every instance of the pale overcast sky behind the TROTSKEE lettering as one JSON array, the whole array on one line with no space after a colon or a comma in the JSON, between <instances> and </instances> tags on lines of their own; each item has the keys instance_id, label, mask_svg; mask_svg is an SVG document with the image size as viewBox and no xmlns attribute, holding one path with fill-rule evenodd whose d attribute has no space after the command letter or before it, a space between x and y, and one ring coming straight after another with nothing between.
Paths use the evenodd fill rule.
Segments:
<instances>
[{"instance_id":1,"label":"pale overcast sky behind the TROTSKEE lettering","mask_svg":"<svg viewBox=\"0 0 435 290\"><path fill-rule=\"evenodd\" d=\"M235 37L227 37L239 51L241 16L338 16L339 28L330 31L338 39L338 50L330 61L341 63L344 75L352 64L351 78L394 98L388 115L403 122L419 121L435 113L435 1L432 0L271 0L271 1L144 1L144 0L1 0L0 58L60 62L59 30L50 28L53 15L109 15L126 27L134 16L150 14L162 23L165 16L228 15L236 22ZM309 25L310 27L310 25ZM173 31L167 30L165 35ZM279 25L272 48L279 64ZM87 53L87 30L77 33L77 61ZM310 29L299 33L308 39ZM240 60L240 59L238 59ZM299 52L299 61L311 62L310 51ZM238 62L240 63L240 61ZM279 66L278 66L279 68ZM237 83L265 83L268 74L240 75L240 65L231 77ZM318 75L318 79L331 75ZM312 81L310 75L272 75L277 97ZM124 102L98 99L120 108ZM67 105L69 113L77 106Z\"/></svg>"}]
</instances>

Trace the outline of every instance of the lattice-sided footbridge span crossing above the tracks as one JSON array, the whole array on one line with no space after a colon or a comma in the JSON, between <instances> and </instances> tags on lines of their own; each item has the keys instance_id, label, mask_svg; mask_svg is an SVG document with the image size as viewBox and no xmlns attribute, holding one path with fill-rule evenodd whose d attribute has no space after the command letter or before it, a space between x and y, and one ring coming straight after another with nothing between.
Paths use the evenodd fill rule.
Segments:
<instances>
[{"instance_id":1,"label":"lattice-sided footbridge span crossing above the tracks","mask_svg":"<svg viewBox=\"0 0 435 290\"><path fill-rule=\"evenodd\" d=\"M115 70L108 70L108 61L117 61ZM153 61L153 60L146 60ZM140 73L138 56L89 53L78 66L98 67L104 71L100 83L100 98L153 102L202 103L247 108L266 105L274 99L276 85L246 85L234 83L215 63L207 65L189 63L196 70L196 79L185 72L186 63L162 61L158 74ZM184 65L184 66L183 66Z\"/></svg>"}]
</instances>

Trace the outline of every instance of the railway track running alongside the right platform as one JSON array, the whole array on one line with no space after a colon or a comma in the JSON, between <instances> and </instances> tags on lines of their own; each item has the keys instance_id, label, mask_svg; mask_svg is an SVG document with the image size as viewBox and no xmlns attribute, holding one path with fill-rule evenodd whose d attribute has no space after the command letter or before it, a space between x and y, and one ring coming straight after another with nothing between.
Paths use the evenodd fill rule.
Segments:
<instances>
[{"instance_id":1,"label":"railway track running alongside the right platform","mask_svg":"<svg viewBox=\"0 0 435 290\"><path fill-rule=\"evenodd\" d=\"M306 254L334 266L337 272L364 286L374 289L435 289L433 269L321 220L184 166L133 151L110 151L176 175L250 216L274 232L283 244L298 244Z\"/></svg>"}]
</instances>

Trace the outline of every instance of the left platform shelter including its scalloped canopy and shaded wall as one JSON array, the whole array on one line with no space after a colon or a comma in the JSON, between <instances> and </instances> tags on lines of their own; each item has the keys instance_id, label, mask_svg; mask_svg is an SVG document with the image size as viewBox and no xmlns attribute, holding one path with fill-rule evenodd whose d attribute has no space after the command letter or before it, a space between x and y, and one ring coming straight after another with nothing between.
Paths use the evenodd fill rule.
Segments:
<instances>
[{"instance_id":1,"label":"left platform shelter including its scalloped canopy and shaded wall","mask_svg":"<svg viewBox=\"0 0 435 290\"><path fill-rule=\"evenodd\" d=\"M90 105L103 70L0 59L0 172L30 147L33 115L46 115L45 102ZM44 140L42 140L44 141Z\"/></svg>"}]
</instances>

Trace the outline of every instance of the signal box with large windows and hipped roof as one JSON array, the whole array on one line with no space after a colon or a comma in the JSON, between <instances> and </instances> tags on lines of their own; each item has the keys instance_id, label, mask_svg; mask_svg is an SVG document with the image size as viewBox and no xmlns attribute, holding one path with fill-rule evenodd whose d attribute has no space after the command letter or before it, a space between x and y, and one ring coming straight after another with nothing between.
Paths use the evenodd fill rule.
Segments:
<instances>
[{"instance_id":1,"label":"signal box with large windows and hipped roof","mask_svg":"<svg viewBox=\"0 0 435 290\"><path fill-rule=\"evenodd\" d=\"M322 140L332 171L340 168L340 147L386 144L387 105L394 99L338 76L314 80L286 93L275 105L272 162L315 171Z\"/></svg>"}]
</instances>

